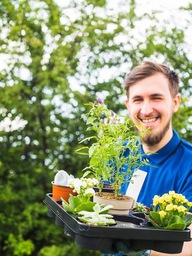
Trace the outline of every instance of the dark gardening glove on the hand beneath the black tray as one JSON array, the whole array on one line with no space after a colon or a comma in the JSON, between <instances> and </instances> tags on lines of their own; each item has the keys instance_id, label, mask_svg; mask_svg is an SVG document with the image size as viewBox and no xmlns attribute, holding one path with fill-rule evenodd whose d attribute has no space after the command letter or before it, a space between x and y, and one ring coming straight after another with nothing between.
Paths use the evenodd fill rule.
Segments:
<instances>
[{"instance_id":1,"label":"dark gardening glove on the hand beneath the black tray","mask_svg":"<svg viewBox=\"0 0 192 256\"><path fill-rule=\"evenodd\" d=\"M141 250L135 249L133 247L127 246L123 243L122 240L117 239L115 240L115 245L112 247L111 250L106 250L103 254L112 256L112 255L119 255L124 254L127 256L149 256L150 250Z\"/></svg>"}]
</instances>

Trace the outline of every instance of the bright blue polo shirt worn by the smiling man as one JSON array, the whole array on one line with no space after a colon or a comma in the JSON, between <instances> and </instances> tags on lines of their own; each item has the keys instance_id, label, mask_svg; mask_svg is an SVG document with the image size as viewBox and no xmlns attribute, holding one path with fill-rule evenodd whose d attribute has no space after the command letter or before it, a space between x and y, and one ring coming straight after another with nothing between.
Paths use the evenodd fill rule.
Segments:
<instances>
[{"instance_id":1,"label":"bright blue polo shirt worn by the smiling man","mask_svg":"<svg viewBox=\"0 0 192 256\"><path fill-rule=\"evenodd\" d=\"M141 153L144 154L142 147ZM180 139L176 131L173 130L173 137L167 145L158 150L156 154L146 157L150 164L157 168L140 167L140 170L147 172L147 176L137 202L150 207L154 195L161 196L170 190L185 195L185 198L192 202L192 144ZM129 182L123 186L121 192L125 194L128 185Z\"/></svg>"}]
</instances>

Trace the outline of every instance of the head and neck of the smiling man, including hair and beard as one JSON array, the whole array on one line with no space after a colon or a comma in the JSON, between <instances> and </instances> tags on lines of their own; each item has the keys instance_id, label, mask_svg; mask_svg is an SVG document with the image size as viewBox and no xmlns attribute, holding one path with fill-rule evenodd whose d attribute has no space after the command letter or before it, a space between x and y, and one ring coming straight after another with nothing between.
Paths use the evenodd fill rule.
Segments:
<instances>
[{"instance_id":1,"label":"head and neck of the smiling man, including hair and beard","mask_svg":"<svg viewBox=\"0 0 192 256\"><path fill-rule=\"evenodd\" d=\"M148 68L149 74L145 72ZM145 125L144 129L152 128L143 138L143 143L147 144L143 148L145 153L156 152L173 136L172 114L178 110L180 103L179 77L165 65L150 62L132 72L125 79L125 104L135 124L138 123L136 115Z\"/></svg>"}]
</instances>

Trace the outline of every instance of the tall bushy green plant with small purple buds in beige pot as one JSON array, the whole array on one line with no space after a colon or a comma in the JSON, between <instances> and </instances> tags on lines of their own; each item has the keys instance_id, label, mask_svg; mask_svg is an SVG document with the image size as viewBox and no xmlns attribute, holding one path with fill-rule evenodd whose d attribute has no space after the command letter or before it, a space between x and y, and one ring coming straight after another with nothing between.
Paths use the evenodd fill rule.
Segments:
<instances>
[{"instance_id":1,"label":"tall bushy green plant with small purple buds in beige pot","mask_svg":"<svg viewBox=\"0 0 192 256\"><path fill-rule=\"evenodd\" d=\"M88 116L87 131L94 130L96 135L80 141L82 143L93 139L95 142L90 147L83 146L76 150L76 153L89 155L89 166L83 171L88 169L85 175L93 173L99 181L99 194L104 182L109 182L117 198L125 182L133 182L131 177L134 171L143 165L150 165L147 159L142 159L143 155L139 150L143 136L150 132L150 129L144 131L141 124L140 135L137 135L134 126L130 125L129 117L117 116L105 107L101 99L98 99L98 102L85 104L90 106L91 110L83 116ZM125 157L126 150L129 153Z\"/></svg>"}]
</instances>

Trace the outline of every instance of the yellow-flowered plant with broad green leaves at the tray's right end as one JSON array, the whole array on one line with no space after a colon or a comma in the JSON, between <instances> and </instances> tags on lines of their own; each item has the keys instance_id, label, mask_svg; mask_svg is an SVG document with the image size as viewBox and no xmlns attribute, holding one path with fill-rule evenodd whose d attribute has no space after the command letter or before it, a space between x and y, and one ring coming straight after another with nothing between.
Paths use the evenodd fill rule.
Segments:
<instances>
[{"instance_id":1,"label":"yellow-flowered plant with broad green leaves at the tray's right end","mask_svg":"<svg viewBox=\"0 0 192 256\"><path fill-rule=\"evenodd\" d=\"M162 196L155 195L153 207L146 218L157 228L184 230L192 222L192 214L187 213L192 207L184 195L169 191Z\"/></svg>"}]
</instances>

